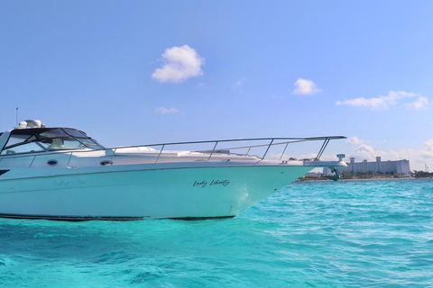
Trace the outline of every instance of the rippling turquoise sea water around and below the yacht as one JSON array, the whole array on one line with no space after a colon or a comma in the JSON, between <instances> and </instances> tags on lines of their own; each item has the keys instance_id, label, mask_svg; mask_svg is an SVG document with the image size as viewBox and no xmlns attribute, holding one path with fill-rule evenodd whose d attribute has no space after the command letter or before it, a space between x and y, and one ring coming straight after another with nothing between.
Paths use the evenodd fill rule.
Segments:
<instances>
[{"instance_id":1,"label":"rippling turquoise sea water around and below the yacht","mask_svg":"<svg viewBox=\"0 0 433 288\"><path fill-rule=\"evenodd\" d=\"M433 180L291 184L228 220L0 220L0 287L433 287Z\"/></svg>"}]
</instances>

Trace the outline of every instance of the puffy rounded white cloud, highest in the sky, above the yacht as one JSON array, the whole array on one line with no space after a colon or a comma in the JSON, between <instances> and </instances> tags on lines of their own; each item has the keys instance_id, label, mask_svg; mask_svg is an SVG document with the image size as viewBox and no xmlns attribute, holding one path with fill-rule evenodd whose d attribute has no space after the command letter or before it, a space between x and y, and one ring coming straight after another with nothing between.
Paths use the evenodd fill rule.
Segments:
<instances>
[{"instance_id":1,"label":"puffy rounded white cloud, highest in the sky, above the yacht","mask_svg":"<svg viewBox=\"0 0 433 288\"><path fill-rule=\"evenodd\" d=\"M162 58L163 66L152 74L152 78L160 82L179 83L189 77L203 75L201 66L205 64L205 59L188 45L166 49Z\"/></svg>"}]
</instances>

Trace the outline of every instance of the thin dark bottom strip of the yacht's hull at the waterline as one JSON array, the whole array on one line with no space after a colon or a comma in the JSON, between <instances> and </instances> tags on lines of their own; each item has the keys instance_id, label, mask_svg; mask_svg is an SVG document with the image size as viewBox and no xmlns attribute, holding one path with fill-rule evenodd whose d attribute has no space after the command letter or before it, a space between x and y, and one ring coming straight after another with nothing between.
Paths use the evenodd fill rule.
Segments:
<instances>
[{"instance_id":1,"label":"thin dark bottom strip of the yacht's hull at the waterline","mask_svg":"<svg viewBox=\"0 0 433 288\"><path fill-rule=\"evenodd\" d=\"M166 218L169 220L210 220L210 219L227 219L234 218L235 216L216 216L216 217L180 217L180 218ZM48 215L15 215L15 214L0 214L0 218L6 219L20 219L20 220L53 220L53 221L68 221L68 222L82 222L82 221L131 221L131 220L145 220L149 217L71 217L71 216L48 216ZM160 219L162 220L162 219Z\"/></svg>"}]
</instances>

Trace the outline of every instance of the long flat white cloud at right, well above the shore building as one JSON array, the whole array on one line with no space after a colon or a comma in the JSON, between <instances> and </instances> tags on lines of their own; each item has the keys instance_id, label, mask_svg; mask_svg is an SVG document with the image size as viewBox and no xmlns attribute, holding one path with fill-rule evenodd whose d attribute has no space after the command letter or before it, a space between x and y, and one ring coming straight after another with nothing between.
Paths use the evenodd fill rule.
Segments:
<instances>
[{"instance_id":1,"label":"long flat white cloud at right, well above the shore building","mask_svg":"<svg viewBox=\"0 0 433 288\"><path fill-rule=\"evenodd\" d=\"M390 105L396 105L399 102L407 101L410 98L416 97L417 94L413 94L405 91L390 91L386 96L379 96L373 98L355 98L347 99L343 101L337 101L336 105L348 105L355 107L370 107L376 110L388 109ZM418 100L413 103L407 103L407 109L420 109L428 104L428 98L419 96Z\"/></svg>"}]
</instances>

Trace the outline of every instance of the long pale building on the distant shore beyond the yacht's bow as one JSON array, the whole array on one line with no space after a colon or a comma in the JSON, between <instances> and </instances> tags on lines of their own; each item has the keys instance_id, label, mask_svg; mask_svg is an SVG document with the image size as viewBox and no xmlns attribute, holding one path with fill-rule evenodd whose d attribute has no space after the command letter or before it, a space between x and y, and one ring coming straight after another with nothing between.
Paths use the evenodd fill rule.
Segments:
<instances>
[{"instance_id":1,"label":"long pale building on the distant shore beyond the yacht's bow","mask_svg":"<svg viewBox=\"0 0 433 288\"><path fill-rule=\"evenodd\" d=\"M352 172L356 173L382 173L382 174L393 174L401 175L403 177L410 177L410 164L409 160L398 160L398 161L382 161L381 157L376 157L375 162L355 162L355 157L350 158L350 162L346 162L347 168L338 168L338 171L343 173ZM324 175L330 175L331 171L329 168L323 168Z\"/></svg>"}]
</instances>

